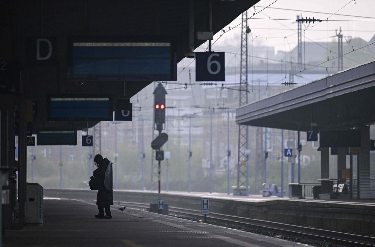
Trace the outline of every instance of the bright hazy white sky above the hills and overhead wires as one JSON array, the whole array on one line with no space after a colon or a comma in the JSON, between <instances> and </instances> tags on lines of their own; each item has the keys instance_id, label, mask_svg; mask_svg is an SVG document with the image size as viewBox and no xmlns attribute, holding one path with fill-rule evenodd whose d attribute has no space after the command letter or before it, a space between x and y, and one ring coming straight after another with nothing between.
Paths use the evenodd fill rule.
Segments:
<instances>
[{"instance_id":1,"label":"bright hazy white sky above the hills and overhead wires","mask_svg":"<svg viewBox=\"0 0 375 247\"><path fill-rule=\"evenodd\" d=\"M257 12L262 10L265 6L268 6L275 0L261 0L258 4L255 5ZM349 3L350 2L350 3ZM315 19L327 19L330 14L323 13L311 13L309 11L317 12L326 12L326 13L335 13L341 9L345 4L349 3L347 6L343 7L337 12L337 14L353 15L353 5L354 13L356 16L368 16L374 18L373 21L355 21L355 32L353 34L353 16L342 16L342 15L333 15L329 20L343 20L343 21L329 21L328 26L327 22L323 21L318 24L314 24L314 27L311 27L313 24L310 24L308 30L305 31L306 42L314 40L315 42L327 42L327 28L329 36L335 35L335 29L342 28L344 36L355 36L361 37L366 41L369 41L371 37L375 34L375 0L356 0L356 4L353 4L354 1L350 0L278 0L273 3L270 7L285 8L285 9L297 9L303 11L294 11L294 10L281 10L281 9L272 9L267 8L263 11L254 15L253 18L275 18L275 19L296 19L296 15L301 15L303 17L311 18L314 16ZM236 1L233 2L236 4ZM248 10L248 17L252 16L254 12L253 7ZM241 16L239 16L241 17ZM355 17L355 19L369 19L362 17ZM237 18L231 22L229 30L229 25L224 28L225 34L213 45L234 45L238 46L240 44L240 34L241 34L241 19ZM248 25L252 29L252 34L254 35L254 45L266 45L266 37L269 46L275 46L276 51L284 51L284 37L288 36L288 42L290 43L291 48L297 45L297 23L295 21L285 21L285 20L269 20L269 19L252 19L248 20ZM233 28L235 27L235 28ZM306 26L307 27L307 26ZM302 25L302 29L306 29L305 25ZM263 29L263 28L283 28L287 30L275 30L275 29ZM293 30L289 30L292 28ZM319 31L322 30L322 31ZM220 32L214 36L216 40L220 36ZM258 36L258 37L255 37ZM304 39L304 37L302 37ZM336 38L330 38L331 40L337 40ZM345 41L345 40L344 40ZM203 45L206 48L207 45ZM289 48L287 47L287 50Z\"/></svg>"}]
</instances>

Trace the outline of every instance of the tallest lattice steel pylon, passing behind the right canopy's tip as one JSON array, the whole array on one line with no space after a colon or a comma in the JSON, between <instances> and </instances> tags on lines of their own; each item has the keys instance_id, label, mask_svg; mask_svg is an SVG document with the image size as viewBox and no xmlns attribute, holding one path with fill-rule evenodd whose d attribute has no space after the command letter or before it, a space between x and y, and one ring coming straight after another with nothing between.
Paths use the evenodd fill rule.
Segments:
<instances>
[{"instance_id":1,"label":"tallest lattice steel pylon, passing behind the right canopy's tip","mask_svg":"<svg viewBox=\"0 0 375 247\"><path fill-rule=\"evenodd\" d=\"M248 12L242 13L241 24L241 61L240 61L240 107L248 104ZM237 193L238 195L249 195L248 189L248 126L239 125L238 133L238 164L237 164ZM240 189L246 186L246 191Z\"/></svg>"}]
</instances>

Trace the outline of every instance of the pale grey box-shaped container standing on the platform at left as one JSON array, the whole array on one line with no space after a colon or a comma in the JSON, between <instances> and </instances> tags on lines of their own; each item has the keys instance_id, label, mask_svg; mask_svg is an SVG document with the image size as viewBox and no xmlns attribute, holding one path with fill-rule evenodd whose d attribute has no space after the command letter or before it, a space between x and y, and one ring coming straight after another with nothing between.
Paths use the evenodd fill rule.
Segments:
<instances>
[{"instance_id":1,"label":"pale grey box-shaped container standing on the platform at left","mask_svg":"<svg viewBox=\"0 0 375 247\"><path fill-rule=\"evenodd\" d=\"M26 223L43 223L43 187L40 184L26 184Z\"/></svg>"}]
</instances>

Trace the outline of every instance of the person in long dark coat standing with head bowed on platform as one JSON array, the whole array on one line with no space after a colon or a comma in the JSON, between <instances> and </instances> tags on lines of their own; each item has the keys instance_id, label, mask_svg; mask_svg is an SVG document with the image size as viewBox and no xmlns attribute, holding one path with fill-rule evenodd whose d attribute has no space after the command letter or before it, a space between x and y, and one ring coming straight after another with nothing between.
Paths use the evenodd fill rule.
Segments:
<instances>
[{"instance_id":1,"label":"person in long dark coat standing with head bowed on platform","mask_svg":"<svg viewBox=\"0 0 375 247\"><path fill-rule=\"evenodd\" d=\"M94 176L91 178L96 181L98 186L96 205L98 205L99 209L99 214L95 215L95 217L98 219L111 219L110 205L113 205L112 162L107 158L103 159L100 154L95 156L94 162L98 168L95 169Z\"/></svg>"}]
</instances>

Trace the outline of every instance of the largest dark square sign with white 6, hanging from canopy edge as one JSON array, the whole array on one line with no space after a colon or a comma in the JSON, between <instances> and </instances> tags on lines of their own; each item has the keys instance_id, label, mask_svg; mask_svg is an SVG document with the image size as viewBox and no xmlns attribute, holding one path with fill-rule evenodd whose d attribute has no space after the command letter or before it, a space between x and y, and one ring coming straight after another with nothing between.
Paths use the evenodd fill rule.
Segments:
<instances>
[{"instance_id":1,"label":"largest dark square sign with white 6, hanging from canopy edge","mask_svg":"<svg viewBox=\"0 0 375 247\"><path fill-rule=\"evenodd\" d=\"M225 52L195 52L195 81L225 81Z\"/></svg>"}]
</instances>

